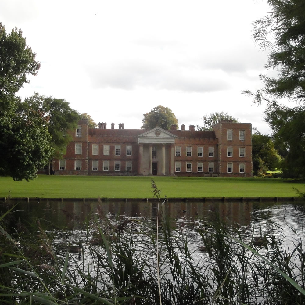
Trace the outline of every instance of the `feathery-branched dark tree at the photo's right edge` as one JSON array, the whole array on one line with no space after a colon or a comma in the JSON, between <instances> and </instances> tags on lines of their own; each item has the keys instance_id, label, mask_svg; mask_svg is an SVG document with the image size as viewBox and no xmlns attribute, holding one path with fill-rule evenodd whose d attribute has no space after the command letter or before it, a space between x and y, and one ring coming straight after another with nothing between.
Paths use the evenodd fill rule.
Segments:
<instances>
[{"instance_id":1,"label":"feathery-branched dark tree at the photo's right edge","mask_svg":"<svg viewBox=\"0 0 305 305\"><path fill-rule=\"evenodd\" d=\"M282 170L285 177L305 177L305 2L268 0L267 16L254 22L254 39L270 48L266 68L276 77L261 74L264 87L245 91L255 103L266 103L264 119L277 145L287 149ZM287 107L281 100L295 101Z\"/></svg>"}]
</instances>

